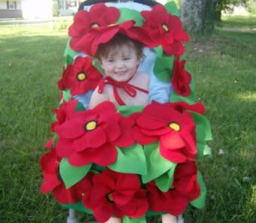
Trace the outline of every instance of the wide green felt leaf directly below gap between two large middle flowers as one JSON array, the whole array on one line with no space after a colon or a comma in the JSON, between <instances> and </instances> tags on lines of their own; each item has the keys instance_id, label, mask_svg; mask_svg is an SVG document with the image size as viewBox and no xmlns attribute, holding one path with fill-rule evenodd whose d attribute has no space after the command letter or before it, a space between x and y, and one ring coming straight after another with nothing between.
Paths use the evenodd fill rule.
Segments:
<instances>
[{"instance_id":1,"label":"wide green felt leaf directly below gap between two large middle flowers","mask_svg":"<svg viewBox=\"0 0 256 223\"><path fill-rule=\"evenodd\" d=\"M108 166L111 170L120 173L147 173L147 164L142 145L134 143L133 146L123 149L117 147L117 152L117 161Z\"/></svg>"}]
</instances>

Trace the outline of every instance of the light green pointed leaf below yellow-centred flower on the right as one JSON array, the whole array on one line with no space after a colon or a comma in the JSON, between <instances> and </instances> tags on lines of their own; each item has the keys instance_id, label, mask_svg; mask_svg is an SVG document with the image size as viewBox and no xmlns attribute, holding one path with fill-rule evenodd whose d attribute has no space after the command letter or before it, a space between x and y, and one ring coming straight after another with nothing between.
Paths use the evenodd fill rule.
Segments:
<instances>
[{"instance_id":1,"label":"light green pointed leaf below yellow-centred flower on the right","mask_svg":"<svg viewBox=\"0 0 256 223\"><path fill-rule=\"evenodd\" d=\"M158 142L145 145L144 152L147 160L147 174L142 175L143 183L149 182L152 179L156 179L176 165L160 155Z\"/></svg>"}]
</instances>

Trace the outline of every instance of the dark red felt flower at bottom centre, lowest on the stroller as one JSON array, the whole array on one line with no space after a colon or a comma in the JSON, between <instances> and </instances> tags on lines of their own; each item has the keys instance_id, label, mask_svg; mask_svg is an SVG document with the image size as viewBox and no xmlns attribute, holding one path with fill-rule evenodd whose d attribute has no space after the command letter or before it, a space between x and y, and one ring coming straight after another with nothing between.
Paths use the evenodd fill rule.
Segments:
<instances>
[{"instance_id":1,"label":"dark red felt flower at bottom centre, lowest on the stroller","mask_svg":"<svg viewBox=\"0 0 256 223\"><path fill-rule=\"evenodd\" d=\"M99 222L108 221L111 216L139 218L148 211L146 191L140 188L139 176L109 169L93 176L91 197L82 201L93 209Z\"/></svg>"}]
</instances>

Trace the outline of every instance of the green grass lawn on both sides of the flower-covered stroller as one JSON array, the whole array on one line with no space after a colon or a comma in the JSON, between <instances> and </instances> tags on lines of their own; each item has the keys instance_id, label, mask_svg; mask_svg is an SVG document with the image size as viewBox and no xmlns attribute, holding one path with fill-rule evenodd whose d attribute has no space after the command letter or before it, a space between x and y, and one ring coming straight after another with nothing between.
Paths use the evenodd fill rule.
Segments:
<instances>
[{"instance_id":1,"label":"green grass lawn on both sides of the flower-covered stroller","mask_svg":"<svg viewBox=\"0 0 256 223\"><path fill-rule=\"evenodd\" d=\"M255 18L226 17L212 36L192 37L187 67L206 105L212 159L199 161L208 188L206 208L189 208L187 223L256 222ZM38 164L50 137L59 92L66 30L0 23L0 222L66 222L67 211L41 194ZM220 154L220 151L224 154ZM79 221L88 217L78 214Z\"/></svg>"}]
</instances>

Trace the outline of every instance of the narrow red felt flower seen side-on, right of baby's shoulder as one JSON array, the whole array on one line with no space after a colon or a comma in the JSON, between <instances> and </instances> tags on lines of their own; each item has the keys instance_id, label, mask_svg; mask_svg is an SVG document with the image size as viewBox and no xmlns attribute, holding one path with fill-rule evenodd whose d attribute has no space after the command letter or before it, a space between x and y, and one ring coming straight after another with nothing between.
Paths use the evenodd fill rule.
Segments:
<instances>
[{"instance_id":1,"label":"narrow red felt flower seen side-on, right of baby's shoulder","mask_svg":"<svg viewBox=\"0 0 256 223\"><path fill-rule=\"evenodd\" d=\"M179 61L179 56L175 57L171 82L175 92L187 97L191 93L189 86L191 82L191 75L184 69L185 62L186 61L184 60Z\"/></svg>"}]
</instances>

